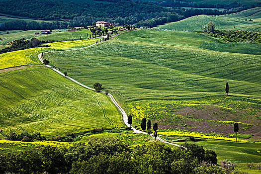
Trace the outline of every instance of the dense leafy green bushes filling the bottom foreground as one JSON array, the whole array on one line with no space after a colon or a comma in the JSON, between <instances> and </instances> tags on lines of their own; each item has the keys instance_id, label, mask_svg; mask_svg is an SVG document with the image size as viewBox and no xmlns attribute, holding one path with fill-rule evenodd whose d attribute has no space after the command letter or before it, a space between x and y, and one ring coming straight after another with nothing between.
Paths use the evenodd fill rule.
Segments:
<instances>
[{"instance_id":1,"label":"dense leafy green bushes filling the bottom foreground","mask_svg":"<svg viewBox=\"0 0 261 174\"><path fill-rule=\"evenodd\" d=\"M117 139L97 139L70 148L47 146L40 152L1 155L0 173L224 174L216 162L214 151L197 145L129 147Z\"/></svg>"}]
</instances>

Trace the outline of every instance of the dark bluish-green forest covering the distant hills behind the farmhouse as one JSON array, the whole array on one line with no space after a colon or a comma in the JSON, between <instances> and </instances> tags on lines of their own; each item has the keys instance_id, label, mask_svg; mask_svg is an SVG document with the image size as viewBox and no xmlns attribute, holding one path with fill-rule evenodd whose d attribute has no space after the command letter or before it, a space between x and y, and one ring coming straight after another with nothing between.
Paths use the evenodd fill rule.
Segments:
<instances>
[{"instance_id":1,"label":"dark bluish-green forest covering the distant hills behind the farmhouse","mask_svg":"<svg viewBox=\"0 0 261 174\"><path fill-rule=\"evenodd\" d=\"M0 23L0 30L60 29L91 25L99 20L113 22L116 25L126 23L135 24L137 27L155 27L193 15L218 15L228 12L212 9L185 9L178 7L181 5L176 3L179 2L171 0L164 1L164 3L151 3L147 1L113 0L113 3L99 3L99 1L97 3L67 3L58 0L5 0L0 1L2 13L38 20L70 20L70 22L6 21ZM165 6L168 5L174 8L166 8ZM234 7L237 8L229 10L229 13L244 9L238 6L240 4L235 3Z\"/></svg>"}]
</instances>

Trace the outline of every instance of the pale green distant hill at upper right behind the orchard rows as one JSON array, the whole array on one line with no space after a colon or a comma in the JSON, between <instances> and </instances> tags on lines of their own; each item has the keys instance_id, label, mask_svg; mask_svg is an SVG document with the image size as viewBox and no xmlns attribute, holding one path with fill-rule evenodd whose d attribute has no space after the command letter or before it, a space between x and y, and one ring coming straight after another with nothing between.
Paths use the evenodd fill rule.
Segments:
<instances>
[{"instance_id":1,"label":"pale green distant hill at upper right behind the orchard rows","mask_svg":"<svg viewBox=\"0 0 261 174\"><path fill-rule=\"evenodd\" d=\"M228 17L219 16L208 16L208 15L198 15L188 17L186 19L171 22L165 25L160 25L156 28L168 29L168 30L189 30L189 31L202 31L202 25L207 25L209 21L214 22L215 29L218 30L260 30L261 22L259 20L253 19L251 21L236 20Z\"/></svg>"}]
</instances>

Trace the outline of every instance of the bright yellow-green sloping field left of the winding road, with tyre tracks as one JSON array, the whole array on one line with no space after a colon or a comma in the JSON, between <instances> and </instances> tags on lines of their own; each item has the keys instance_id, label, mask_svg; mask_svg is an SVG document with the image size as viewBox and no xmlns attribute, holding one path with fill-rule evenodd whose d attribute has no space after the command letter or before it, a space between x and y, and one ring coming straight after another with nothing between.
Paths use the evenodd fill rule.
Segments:
<instances>
[{"instance_id":1,"label":"bright yellow-green sloping field left of the winding road, with tyre tracks","mask_svg":"<svg viewBox=\"0 0 261 174\"><path fill-rule=\"evenodd\" d=\"M96 127L123 127L104 94L83 87L51 69L33 67L0 73L0 128L46 136Z\"/></svg>"}]
</instances>

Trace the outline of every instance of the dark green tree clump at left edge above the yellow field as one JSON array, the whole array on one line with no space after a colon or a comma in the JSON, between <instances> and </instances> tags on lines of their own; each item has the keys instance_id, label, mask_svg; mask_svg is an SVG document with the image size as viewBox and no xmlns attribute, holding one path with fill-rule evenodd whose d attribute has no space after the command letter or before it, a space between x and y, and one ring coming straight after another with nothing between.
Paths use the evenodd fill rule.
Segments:
<instances>
[{"instance_id":1,"label":"dark green tree clump at left edge above the yellow field","mask_svg":"<svg viewBox=\"0 0 261 174\"><path fill-rule=\"evenodd\" d=\"M11 51L16 51L16 50L23 50L23 49L28 49L28 48L35 48L41 45L41 42L36 39L28 39L25 40L24 38L15 40L12 42L12 45L10 47L3 48L0 50L1 53L6 53L6 52L11 52Z\"/></svg>"}]
</instances>

